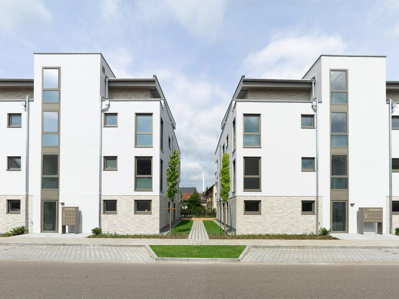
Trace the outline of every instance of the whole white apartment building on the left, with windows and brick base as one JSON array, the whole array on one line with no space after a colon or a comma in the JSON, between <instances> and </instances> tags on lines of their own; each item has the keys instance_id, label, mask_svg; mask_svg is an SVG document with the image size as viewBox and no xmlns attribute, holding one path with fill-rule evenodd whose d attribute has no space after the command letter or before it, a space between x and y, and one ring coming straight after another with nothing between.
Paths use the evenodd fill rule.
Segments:
<instances>
[{"instance_id":1,"label":"whole white apartment building on the left, with windows and brick base","mask_svg":"<svg viewBox=\"0 0 399 299\"><path fill-rule=\"evenodd\" d=\"M175 210L165 197L176 123L156 76L115 78L101 53L34 53L32 79L0 79L0 119L0 232L61 233L64 207L83 233L179 218L179 196Z\"/></svg>"}]
</instances>

